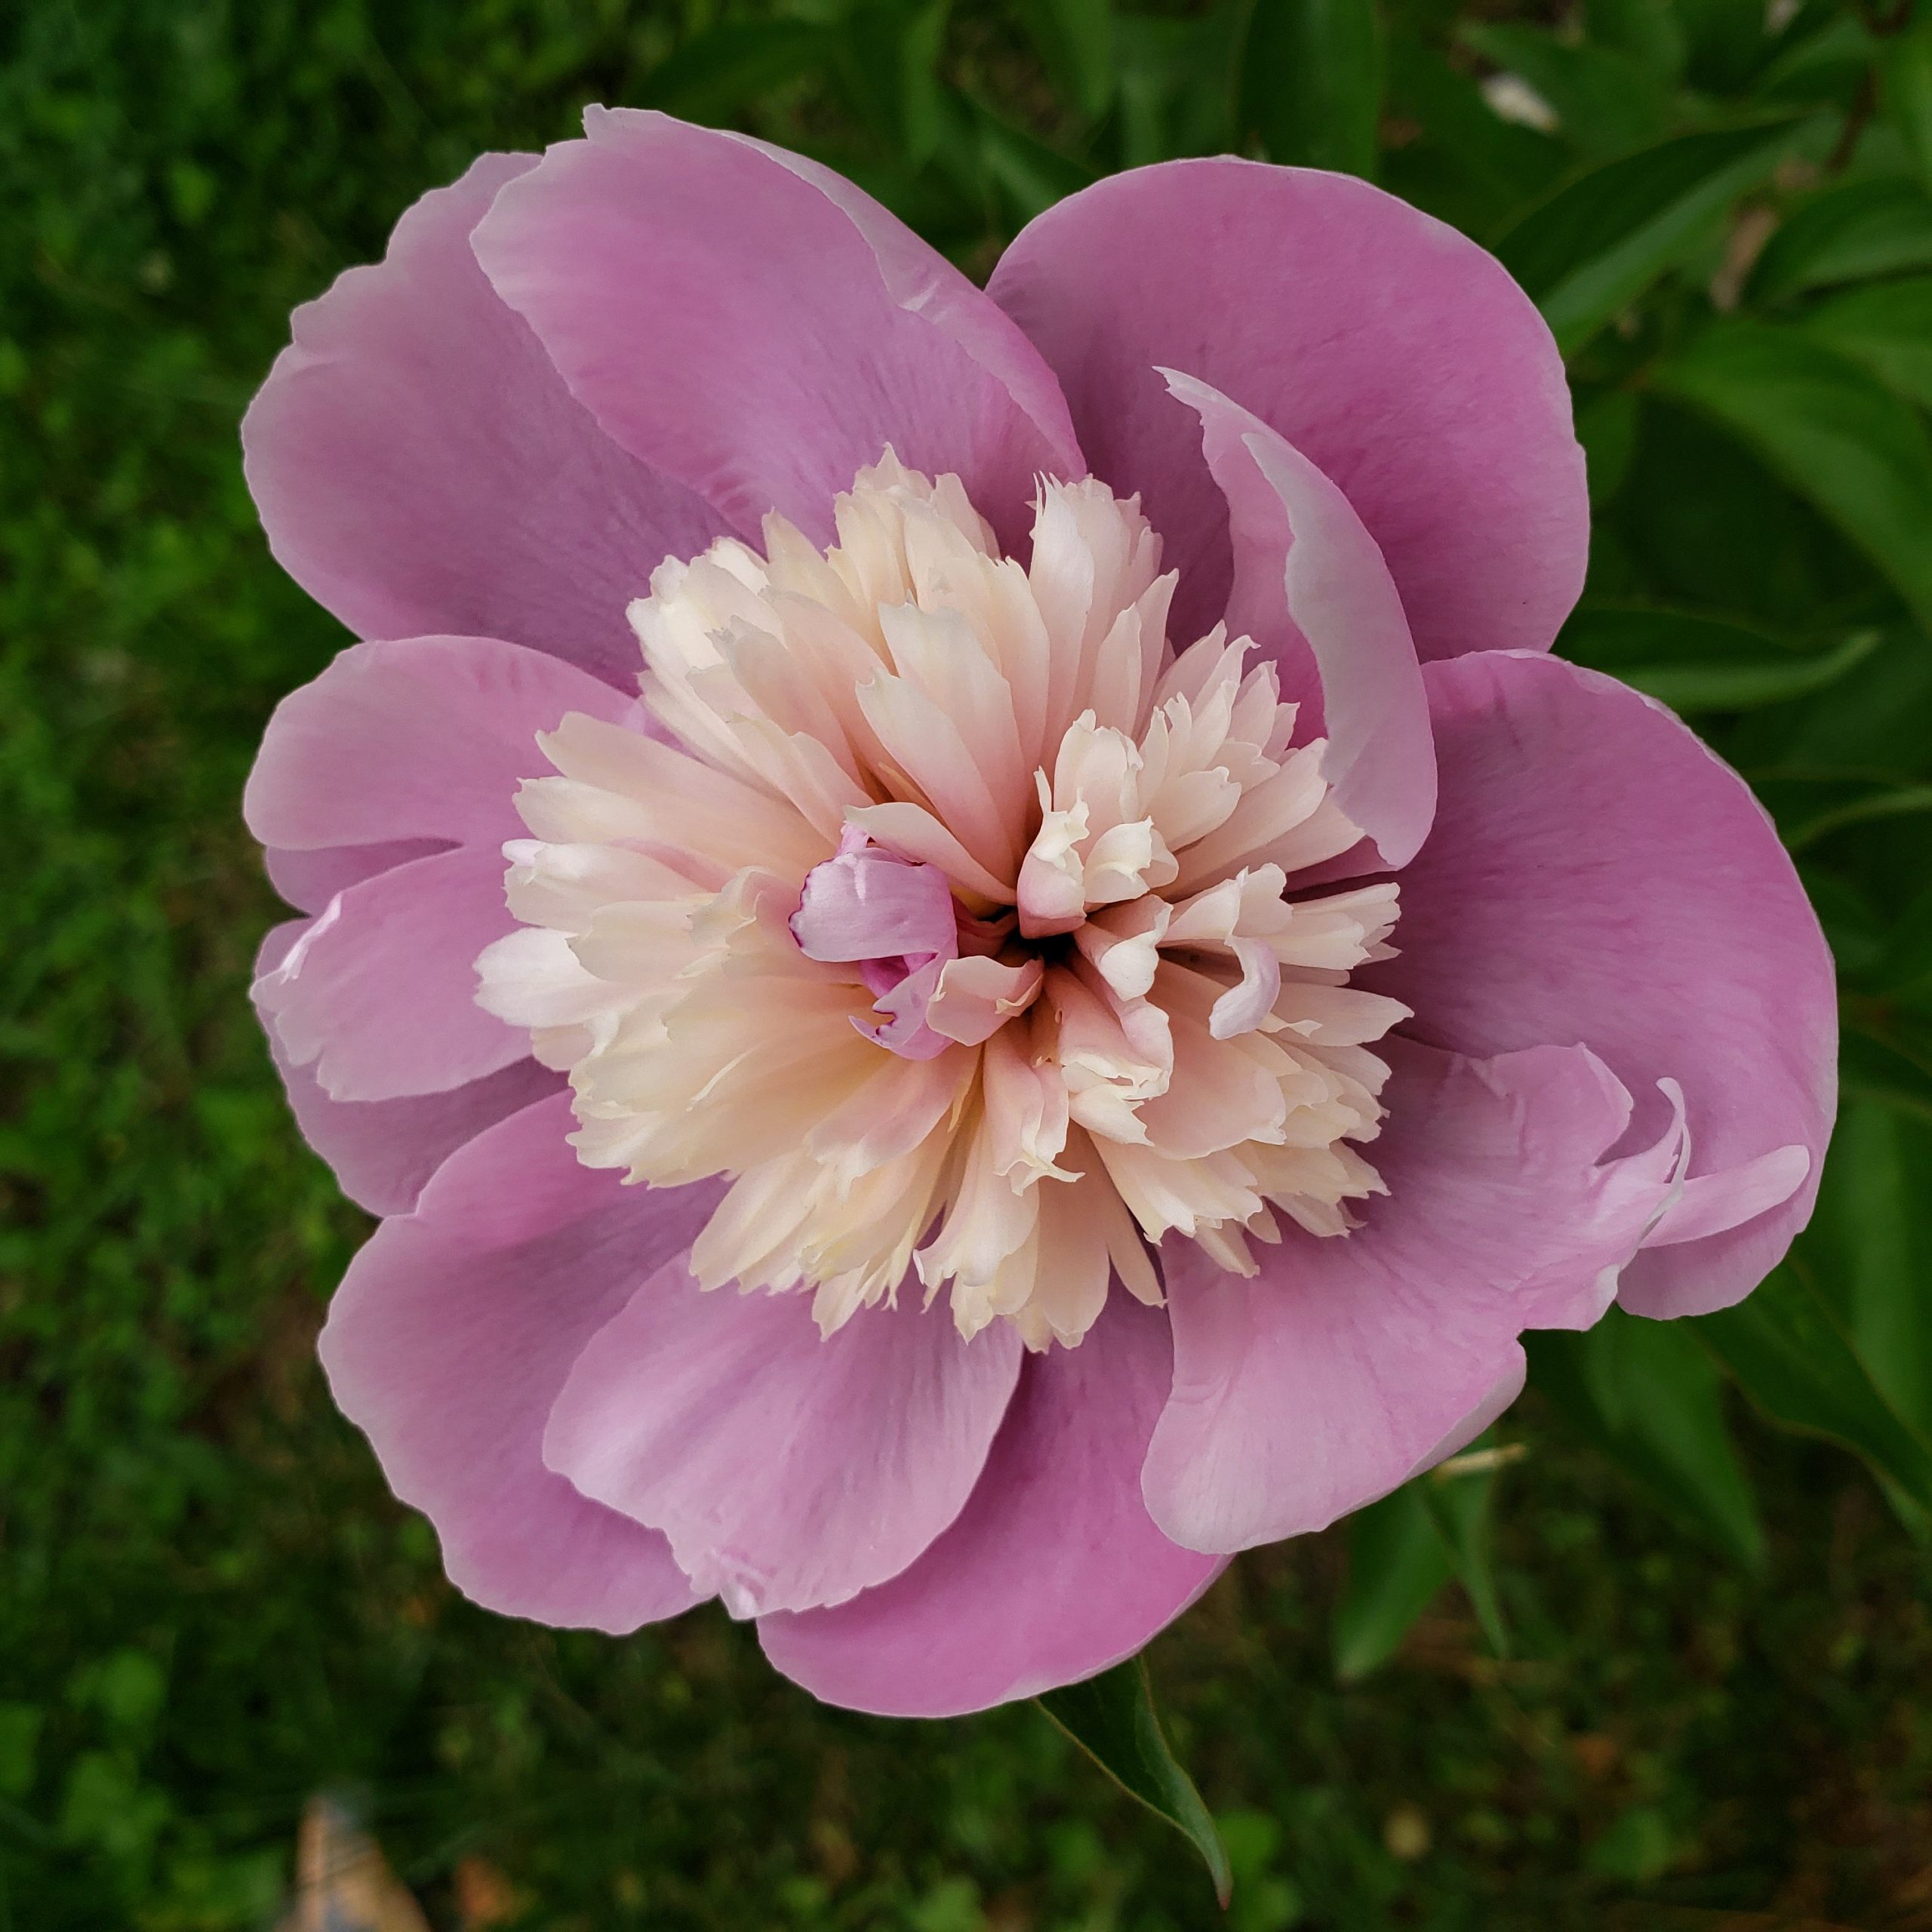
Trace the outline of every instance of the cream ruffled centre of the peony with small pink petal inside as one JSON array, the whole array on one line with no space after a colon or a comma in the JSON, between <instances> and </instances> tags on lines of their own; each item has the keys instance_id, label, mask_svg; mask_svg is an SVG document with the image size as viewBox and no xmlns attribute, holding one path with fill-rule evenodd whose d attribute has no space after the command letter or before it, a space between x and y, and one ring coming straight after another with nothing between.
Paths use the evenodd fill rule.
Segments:
<instances>
[{"instance_id":1,"label":"cream ruffled centre of the peony with small pink petal inside","mask_svg":"<svg viewBox=\"0 0 1932 1932\"><path fill-rule=\"evenodd\" d=\"M1171 651L1092 479L1041 485L1026 564L891 452L837 529L659 566L647 717L564 719L518 796L479 997L568 1070L580 1157L728 1175L699 1279L825 1331L912 1271L968 1335L1076 1343L1109 1281L1161 1298L1148 1244L1345 1235L1405 1016L1347 980L1397 900L1289 896L1360 833L1273 667Z\"/></svg>"}]
</instances>

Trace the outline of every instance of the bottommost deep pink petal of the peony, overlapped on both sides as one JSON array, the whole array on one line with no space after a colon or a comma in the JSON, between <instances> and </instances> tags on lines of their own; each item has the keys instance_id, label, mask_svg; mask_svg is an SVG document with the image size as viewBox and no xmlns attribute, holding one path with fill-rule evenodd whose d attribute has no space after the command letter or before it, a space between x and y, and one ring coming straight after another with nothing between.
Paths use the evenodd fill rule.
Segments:
<instances>
[{"instance_id":1,"label":"bottommost deep pink petal of the peony, overlapped on both sides","mask_svg":"<svg viewBox=\"0 0 1932 1932\"><path fill-rule=\"evenodd\" d=\"M1115 1287L1078 1349L1028 1356L960 1519L910 1569L759 1638L813 1696L954 1718L1134 1656L1221 1573L1171 1544L1140 1464L1173 1381L1167 1316Z\"/></svg>"}]
</instances>

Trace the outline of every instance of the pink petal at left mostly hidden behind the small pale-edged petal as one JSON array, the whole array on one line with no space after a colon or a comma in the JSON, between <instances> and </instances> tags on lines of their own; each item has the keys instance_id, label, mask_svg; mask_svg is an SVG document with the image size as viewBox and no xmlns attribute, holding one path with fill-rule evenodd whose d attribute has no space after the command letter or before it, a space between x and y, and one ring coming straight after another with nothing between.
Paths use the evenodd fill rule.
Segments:
<instances>
[{"instance_id":1,"label":"pink petal at left mostly hidden behind the small pale-edged petal","mask_svg":"<svg viewBox=\"0 0 1932 1932\"><path fill-rule=\"evenodd\" d=\"M255 958L257 980L272 974L307 929L307 920L272 927ZM342 1192L369 1213L408 1213L429 1177L464 1142L562 1086L560 1074L522 1059L448 1094L330 1099L307 1066L290 1063L267 1016L263 1030L301 1138L334 1169Z\"/></svg>"}]
</instances>

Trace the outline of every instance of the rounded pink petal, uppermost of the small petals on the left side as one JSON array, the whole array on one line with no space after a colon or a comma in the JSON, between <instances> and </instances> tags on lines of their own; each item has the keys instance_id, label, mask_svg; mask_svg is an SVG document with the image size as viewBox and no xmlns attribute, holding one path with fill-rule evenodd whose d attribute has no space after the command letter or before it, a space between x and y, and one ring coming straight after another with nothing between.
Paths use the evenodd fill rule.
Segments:
<instances>
[{"instance_id":1,"label":"rounded pink petal, uppermost of the small petals on the left side","mask_svg":"<svg viewBox=\"0 0 1932 1932\"><path fill-rule=\"evenodd\" d=\"M549 773L537 732L636 699L497 638L357 643L274 707L242 811L267 846L524 837L516 788Z\"/></svg>"}]
</instances>

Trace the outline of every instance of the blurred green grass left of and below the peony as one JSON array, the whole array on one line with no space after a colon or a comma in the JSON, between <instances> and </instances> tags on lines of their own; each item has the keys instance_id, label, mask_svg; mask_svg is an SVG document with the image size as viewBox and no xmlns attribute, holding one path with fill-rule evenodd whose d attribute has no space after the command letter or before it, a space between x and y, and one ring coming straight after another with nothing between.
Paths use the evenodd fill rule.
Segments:
<instances>
[{"instance_id":1,"label":"blurred green grass left of and below the peony","mask_svg":"<svg viewBox=\"0 0 1932 1932\"><path fill-rule=\"evenodd\" d=\"M556 1932L1213 1922L1032 1708L871 1721L711 1609L611 1642L469 1607L315 1366L365 1223L245 1009L276 908L238 798L344 639L267 556L236 421L296 301L475 149L628 99L674 12L0 21L0 1928L267 1924L317 1789L450 1926L466 1861ZM1511 1432L1511 1662L1449 1594L1337 1687L1335 1538L1240 1561L1155 1646L1233 1932L1932 1926L1932 1578L1870 1482L1747 1428L1750 1580L1534 1403Z\"/></svg>"}]
</instances>

